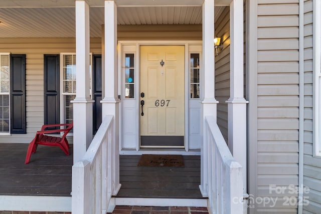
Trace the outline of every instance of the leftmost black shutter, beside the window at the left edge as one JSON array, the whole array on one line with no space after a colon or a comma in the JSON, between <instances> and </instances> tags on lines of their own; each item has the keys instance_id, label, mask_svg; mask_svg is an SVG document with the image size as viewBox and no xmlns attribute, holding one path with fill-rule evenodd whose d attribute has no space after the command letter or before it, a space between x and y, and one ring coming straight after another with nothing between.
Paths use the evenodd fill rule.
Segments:
<instances>
[{"instance_id":1,"label":"leftmost black shutter, beside the window at the left edge","mask_svg":"<svg viewBox=\"0 0 321 214\"><path fill-rule=\"evenodd\" d=\"M10 55L11 133L26 134L26 55Z\"/></svg>"}]
</instances>

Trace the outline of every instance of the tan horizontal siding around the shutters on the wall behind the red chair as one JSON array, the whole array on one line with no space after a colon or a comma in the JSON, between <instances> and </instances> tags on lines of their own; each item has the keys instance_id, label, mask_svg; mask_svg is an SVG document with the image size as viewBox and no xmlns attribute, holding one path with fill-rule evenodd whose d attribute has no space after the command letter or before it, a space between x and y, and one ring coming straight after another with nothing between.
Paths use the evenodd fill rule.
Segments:
<instances>
[{"instance_id":1,"label":"tan horizontal siding around the shutters on the wall behind the red chair","mask_svg":"<svg viewBox=\"0 0 321 214\"><path fill-rule=\"evenodd\" d=\"M101 39L90 39L90 52L101 53ZM2 38L0 53L26 54L27 134L0 136L2 143L29 143L44 124L44 54L73 53L74 38Z\"/></svg>"}]
</instances>

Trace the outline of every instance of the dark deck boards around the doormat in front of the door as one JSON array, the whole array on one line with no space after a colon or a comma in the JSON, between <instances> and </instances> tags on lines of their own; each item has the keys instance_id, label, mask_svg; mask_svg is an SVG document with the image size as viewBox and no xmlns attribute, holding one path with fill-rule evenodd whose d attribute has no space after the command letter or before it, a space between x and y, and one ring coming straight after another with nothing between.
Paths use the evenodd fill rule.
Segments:
<instances>
[{"instance_id":1,"label":"dark deck boards around the doormat in front of the door","mask_svg":"<svg viewBox=\"0 0 321 214\"><path fill-rule=\"evenodd\" d=\"M116 197L203 198L200 156L183 156L184 167L137 166L140 155L120 155Z\"/></svg>"}]
</instances>

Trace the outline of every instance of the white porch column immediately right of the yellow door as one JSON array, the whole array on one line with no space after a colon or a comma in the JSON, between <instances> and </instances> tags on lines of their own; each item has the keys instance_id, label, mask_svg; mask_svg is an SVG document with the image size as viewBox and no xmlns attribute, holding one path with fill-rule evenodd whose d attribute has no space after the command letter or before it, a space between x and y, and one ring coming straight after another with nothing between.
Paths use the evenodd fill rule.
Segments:
<instances>
[{"instance_id":1,"label":"white porch column immediately right of the yellow door","mask_svg":"<svg viewBox=\"0 0 321 214\"><path fill-rule=\"evenodd\" d=\"M201 146L201 185L203 196L207 196L208 186L208 155L205 131L205 116L214 116L216 119L215 74L214 74L214 0L205 0L203 3L203 59L204 71L204 99L203 104L203 145ZM205 150L206 149L206 150Z\"/></svg>"}]
</instances>

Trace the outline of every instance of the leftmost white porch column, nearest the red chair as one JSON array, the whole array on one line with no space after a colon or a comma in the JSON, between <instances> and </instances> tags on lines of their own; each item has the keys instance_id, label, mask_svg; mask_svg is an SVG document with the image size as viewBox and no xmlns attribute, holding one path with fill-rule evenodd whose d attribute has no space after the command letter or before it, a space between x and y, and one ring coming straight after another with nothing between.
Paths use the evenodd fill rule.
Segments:
<instances>
[{"instance_id":1,"label":"leftmost white porch column, nearest the red chair","mask_svg":"<svg viewBox=\"0 0 321 214\"><path fill-rule=\"evenodd\" d=\"M89 6L76 4L76 98L73 103L74 163L81 160L92 140L92 101L89 97Z\"/></svg>"}]
</instances>

